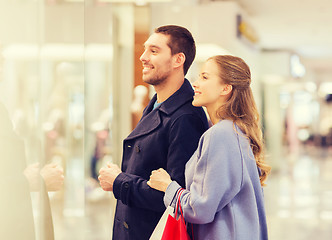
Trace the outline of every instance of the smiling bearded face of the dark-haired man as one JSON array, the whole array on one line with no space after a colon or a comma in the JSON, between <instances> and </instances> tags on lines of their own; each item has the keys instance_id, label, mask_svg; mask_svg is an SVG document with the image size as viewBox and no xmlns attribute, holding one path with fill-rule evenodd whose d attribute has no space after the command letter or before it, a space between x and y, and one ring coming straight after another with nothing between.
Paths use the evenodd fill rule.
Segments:
<instances>
[{"instance_id":1,"label":"smiling bearded face of the dark-haired man","mask_svg":"<svg viewBox=\"0 0 332 240\"><path fill-rule=\"evenodd\" d=\"M169 36L153 33L144 43L144 52L140 57L143 63L143 81L151 85L163 83L171 74L172 54L167 42Z\"/></svg>"}]
</instances>

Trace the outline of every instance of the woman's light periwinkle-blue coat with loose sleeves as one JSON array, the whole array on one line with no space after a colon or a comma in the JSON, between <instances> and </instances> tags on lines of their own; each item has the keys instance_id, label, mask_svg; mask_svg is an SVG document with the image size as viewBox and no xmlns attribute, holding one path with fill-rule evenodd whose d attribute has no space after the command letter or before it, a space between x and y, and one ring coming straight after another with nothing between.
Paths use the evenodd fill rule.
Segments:
<instances>
[{"instance_id":1,"label":"woman's light periwinkle-blue coat with loose sleeves","mask_svg":"<svg viewBox=\"0 0 332 240\"><path fill-rule=\"evenodd\" d=\"M201 137L185 169L181 206L194 224L195 240L266 240L263 191L249 140L232 121L213 125ZM173 181L164 203L180 186Z\"/></svg>"}]
</instances>

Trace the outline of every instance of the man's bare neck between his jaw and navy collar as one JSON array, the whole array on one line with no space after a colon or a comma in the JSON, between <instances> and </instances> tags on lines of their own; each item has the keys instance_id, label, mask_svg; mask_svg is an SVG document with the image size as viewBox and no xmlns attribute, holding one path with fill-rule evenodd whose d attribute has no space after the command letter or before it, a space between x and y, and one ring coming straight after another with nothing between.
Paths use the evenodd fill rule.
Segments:
<instances>
[{"instance_id":1,"label":"man's bare neck between his jaw and navy collar","mask_svg":"<svg viewBox=\"0 0 332 240\"><path fill-rule=\"evenodd\" d=\"M172 96L177 90L180 89L184 82L184 76L177 76L167 79L163 84L154 86L157 93L157 102L161 103L166 101L170 96Z\"/></svg>"}]
</instances>

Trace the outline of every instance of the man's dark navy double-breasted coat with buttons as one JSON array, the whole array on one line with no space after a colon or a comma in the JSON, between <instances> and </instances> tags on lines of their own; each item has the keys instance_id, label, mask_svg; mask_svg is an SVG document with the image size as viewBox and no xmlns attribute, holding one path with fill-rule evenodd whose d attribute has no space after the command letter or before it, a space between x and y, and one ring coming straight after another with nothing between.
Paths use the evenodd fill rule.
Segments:
<instances>
[{"instance_id":1,"label":"man's dark navy double-breasted coat with buttons","mask_svg":"<svg viewBox=\"0 0 332 240\"><path fill-rule=\"evenodd\" d=\"M117 201L113 240L148 240L165 210L164 193L147 185L151 171L164 168L185 187L185 164L207 130L204 110L192 105L194 91L181 88L153 110L155 95L123 142L122 173L115 179Z\"/></svg>"}]
</instances>

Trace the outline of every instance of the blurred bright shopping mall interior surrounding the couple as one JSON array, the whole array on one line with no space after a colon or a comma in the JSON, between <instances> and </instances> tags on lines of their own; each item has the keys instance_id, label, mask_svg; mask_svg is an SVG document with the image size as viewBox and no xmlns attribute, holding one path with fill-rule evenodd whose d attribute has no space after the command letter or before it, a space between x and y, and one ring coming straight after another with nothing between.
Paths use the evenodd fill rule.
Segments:
<instances>
[{"instance_id":1,"label":"blurred bright shopping mall interior surrounding the couple","mask_svg":"<svg viewBox=\"0 0 332 240\"><path fill-rule=\"evenodd\" d=\"M273 167L270 239L332 239L331 9L329 0L0 0L0 102L26 166L64 170L61 187L30 193L36 239L111 239L115 199L98 171L121 163L122 140L154 94L139 56L165 24L196 40L191 82L212 55L251 68Z\"/></svg>"}]
</instances>

